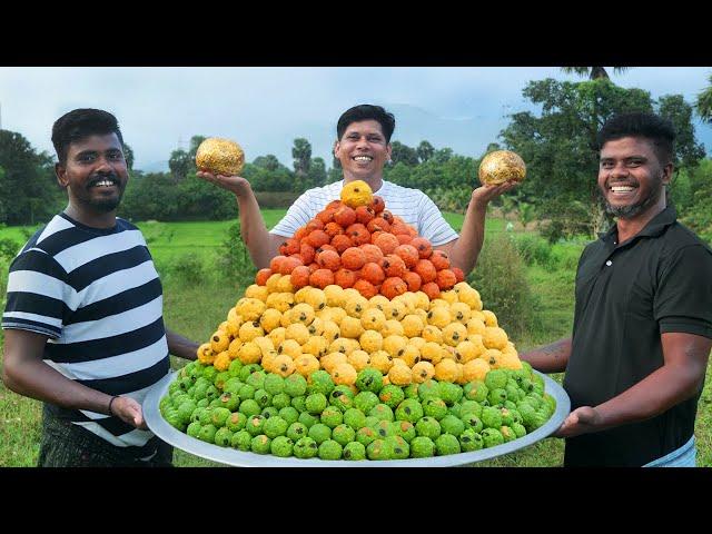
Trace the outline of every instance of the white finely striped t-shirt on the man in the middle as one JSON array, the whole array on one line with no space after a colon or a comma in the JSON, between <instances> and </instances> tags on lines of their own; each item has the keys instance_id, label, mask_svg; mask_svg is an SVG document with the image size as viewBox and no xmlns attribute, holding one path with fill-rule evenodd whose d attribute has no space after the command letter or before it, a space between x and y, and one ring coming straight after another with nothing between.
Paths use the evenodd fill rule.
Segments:
<instances>
[{"instance_id":1,"label":"white finely striped t-shirt on the man in the middle","mask_svg":"<svg viewBox=\"0 0 712 534\"><path fill-rule=\"evenodd\" d=\"M308 189L295 200L287 210L287 215L269 233L283 237L294 236L327 204L338 200L343 188L344 180ZM426 238L434 246L457 239L457 233L443 218L435 202L423 191L383 180L383 185L374 194L384 199L388 211L412 225L421 237Z\"/></svg>"}]
</instances>

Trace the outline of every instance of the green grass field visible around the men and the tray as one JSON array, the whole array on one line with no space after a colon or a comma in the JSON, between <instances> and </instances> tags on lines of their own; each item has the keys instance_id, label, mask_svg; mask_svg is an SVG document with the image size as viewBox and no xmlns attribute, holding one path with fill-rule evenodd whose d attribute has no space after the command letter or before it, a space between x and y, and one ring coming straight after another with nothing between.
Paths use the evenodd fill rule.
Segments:
<instances>
[{"instance_id":1,"label":"green grass field visible around the men and the tray","mask_svg":"<svg viewBox=\"0 0 712 534\"><path fill-rule=\"evenodd\" d=\"M264 210L267 227L274 226L284 215L284 210ZM462 227L463 217L446 214L454 228ZM225 240L225 231L234 221L215 222L140 222L156 264L167 268L180 257L198 254L209 269L216 254ZM503 219L487 220L487 237L504 233ZM2 228L0 239L13 238L24 243L26 235L32 229ZM31 231L29 231L31 234ZM521 236L522 234L516 234ZM487 239L485 240L487 247ZM583 243L557 244L552 255L556 265L526 267L526 283L537 298L535 328L522 338L514 339L520 350L558 339L571 333L573 319L573 280L575 260L583 248ZM572 267L573 261L573 267ZM7 266L0 273L0 289L4 295ZM166 325L196 340L207 339L217 325L225 320L227 310L235 305L241 295L241 287L226 287L216 277L206 277L202 284L189 284L179 277L164 277L164 299ZM2 303L4 306L4 301ZM485 303L486 306L486 303ZM496 312L496 310L495 310ZM506 326L505 326L506 328ZM2 330L0 330L0 340ZM185 360L174 359L179 367ZM710 364L712 365L712 364ZM698 439L698 465L712 466L712 373L708 367L705 388L699 405L695 435ZM561 380L561 375L555 375ZM40 437L41 404L37 400L16 395L0 383L0 466L31 466L37 462ZM477 464L478 466L560 466L563 462L563 441L546 438L535 445L516 453ZM178 466L217 466L211 462L177 451L175 463Z\"/></svg>"}]
</instances>

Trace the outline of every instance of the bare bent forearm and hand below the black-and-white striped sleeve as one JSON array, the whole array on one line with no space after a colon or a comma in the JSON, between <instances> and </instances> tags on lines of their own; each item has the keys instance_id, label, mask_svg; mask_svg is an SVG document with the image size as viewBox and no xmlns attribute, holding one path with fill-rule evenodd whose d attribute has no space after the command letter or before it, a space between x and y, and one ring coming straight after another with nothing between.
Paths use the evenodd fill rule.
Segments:
<instances>
[{"instance_id":1,"label":"bare bent forearm and hand below the black-and-white striped sleeve","mask_svg":"<svg viewBox=\"0 0 712 534\"><path fill-rule=\"evenodd\" d=\"M2 382L14 393L69 409L116 415L125 423L146 428L141 406L130 397L117 397L87 387L47 365L43 360L47 336L28 330L4 332Z\"/></svg>"}]
</instances>

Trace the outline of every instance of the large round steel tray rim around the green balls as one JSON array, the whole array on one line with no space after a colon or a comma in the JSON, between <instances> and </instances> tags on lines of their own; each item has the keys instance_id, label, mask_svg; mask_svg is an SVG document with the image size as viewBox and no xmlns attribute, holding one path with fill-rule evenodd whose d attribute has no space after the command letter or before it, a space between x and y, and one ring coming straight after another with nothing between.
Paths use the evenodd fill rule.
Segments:
<instances>
[{"instance_id":1,"label":"large round steel tray rim around the green balls","mask_svg":"<svg viewBox=\"0 0 712 534\"><path fill-rule=\"evenodd\" d=\"M537 372L535 372L537 373ZM473 464L484 459L491 459L503 454L527 447L553 434L564 422L571 409L571 402L566 392L552 378L537 373L544 378L545 390L556 399L556 411L552 417L540 428L495 447L473 451L471 453L451 454L446 456L433 456L429 458L384 459L352 462L346 459L300 459L295 457L280 458L273 455L244 453L230 447L220 447L201 442L195 437L174 428L166 422L158 409L161 397L168 393L168 385L175 378L176 373L166 375L151 387L144 399L144 417L148 427L166 443L171 444L187 453L200 456L220 464L239 467L448 467Z\"/></svg>"}]
</instances>

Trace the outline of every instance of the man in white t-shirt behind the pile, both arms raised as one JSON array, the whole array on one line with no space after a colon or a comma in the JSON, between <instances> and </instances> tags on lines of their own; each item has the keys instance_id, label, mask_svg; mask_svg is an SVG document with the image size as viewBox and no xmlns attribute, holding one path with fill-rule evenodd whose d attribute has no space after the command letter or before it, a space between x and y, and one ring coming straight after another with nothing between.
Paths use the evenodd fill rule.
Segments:
<instances>
[{"instance_id":1,"label":"man in white t-shirt behind the pile, both arms raised","mask_svg":"<svg viewBox=\"0 0 712 534\"><path fill-rule=\"evenodd\" d=\"M360 105L345 111L338 119L334 145L344 180L304 192L270 231L267 231L255 194L245 178L215 176L201 170L197 176L233 191L237 197L243 239L257 268L268 267L269 260L278 255L285 237L291 237L329 201L338 199L345 184L364 180L375 195L383 197L393 215L413 225L422 237L433 244L434 249L448 254L453 267L459 267L467 275L474 268L484 241L487 204L516 184L483 186L473 190L458 236L427 195L383 179L383 168L390 159L390 136L395 123L394 116L380 106Z\"/></svg>"}]
</instances>

